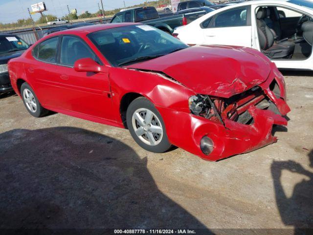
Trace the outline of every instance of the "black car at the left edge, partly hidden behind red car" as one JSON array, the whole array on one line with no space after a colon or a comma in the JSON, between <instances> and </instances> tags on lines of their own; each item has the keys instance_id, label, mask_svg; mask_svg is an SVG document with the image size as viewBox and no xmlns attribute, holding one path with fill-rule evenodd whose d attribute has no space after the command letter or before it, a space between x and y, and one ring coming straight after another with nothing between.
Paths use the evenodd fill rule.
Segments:
<instances>
[{"instance_id":1,"label":"black car at the left edge, partly hidden behind red car","mask_svg":"<svg viewBox=\"0 0 313 235\"><path fill-rule=\"evenodd\" d=\"M0 34L0 93L12 91L7 63L19 57L29 47L14 34Z\"/></svg>"}]
</instances>

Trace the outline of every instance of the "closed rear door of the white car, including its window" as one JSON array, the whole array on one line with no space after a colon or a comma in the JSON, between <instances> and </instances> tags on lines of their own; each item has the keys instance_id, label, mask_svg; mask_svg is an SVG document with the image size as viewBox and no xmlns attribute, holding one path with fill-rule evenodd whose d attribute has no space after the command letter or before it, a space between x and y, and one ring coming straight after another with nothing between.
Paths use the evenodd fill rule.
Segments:
<instances>
[{"instance_id":1,"label":"closed rear door of the white car, including its window","mask_svg":"<svg viewBox=\"0 0 313 235\"><path fill-rule=\"evenodd\" d=\"M251 7L220 12L201 24L204 44L251 47Z\"/></svg>"}]
</instances>

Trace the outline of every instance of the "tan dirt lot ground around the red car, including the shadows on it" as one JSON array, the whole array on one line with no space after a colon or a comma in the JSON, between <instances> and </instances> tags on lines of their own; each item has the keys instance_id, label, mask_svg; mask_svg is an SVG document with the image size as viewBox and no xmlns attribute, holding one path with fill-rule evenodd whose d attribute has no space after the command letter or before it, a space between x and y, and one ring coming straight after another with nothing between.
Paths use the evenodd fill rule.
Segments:
<instances>
[{"instance_id":1,"label":"tan dirt lot ground around the red car, including the shadows on it","mask_svg":"<svg viewBox=\"0 0 313 235\"><path fill-rule=\"evenodd\" d=\"M0 228L312 228L313 73L284 75L288 131L216 163L147 152L124 129L33 118L18 96L2 97Z\"/></svg>"}]
</instances>

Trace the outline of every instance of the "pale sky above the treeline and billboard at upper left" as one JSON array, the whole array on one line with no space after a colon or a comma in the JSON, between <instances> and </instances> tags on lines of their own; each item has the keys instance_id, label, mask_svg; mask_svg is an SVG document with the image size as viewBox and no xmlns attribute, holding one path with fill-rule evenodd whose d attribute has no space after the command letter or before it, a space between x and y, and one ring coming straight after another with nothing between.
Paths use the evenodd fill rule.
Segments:
<instances>
[{"instance_id":1,"label":"pale sky above the treeline and billboard at upper left","mask_svg":"<svg viewBox=\"0 0 313 235\"><path fill-rule=\"evenodd\" d=\"M29 17L27 8L31 5L43 0L0 0L0 22L11 23L18 19L26 19ZM58 17L67 14L67 5L69 9L77 9L77 14L81 14L83 11L89 11L94 13L98 11L98 2L100 0L44 0L48 11L45 14L52 14ZM115 8L123 7L123 0L102 0L104 10L112 10ZM126 6L142 3L145 0L125 0ZM100 4L101 7L101 4ZM32 15L34 20L40 17L37 13Z\"/></svg>"}]
</instances>

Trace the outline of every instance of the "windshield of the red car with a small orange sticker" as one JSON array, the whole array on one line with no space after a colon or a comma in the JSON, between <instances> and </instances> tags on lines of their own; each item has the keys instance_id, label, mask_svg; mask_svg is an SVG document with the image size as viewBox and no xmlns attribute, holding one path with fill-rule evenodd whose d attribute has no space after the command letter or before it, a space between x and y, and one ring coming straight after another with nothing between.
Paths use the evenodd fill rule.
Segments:
<instances>
[{"instance_id":1,"label":"windshield of the red car with a small orange sticker","mask_svg":"<svg viewBox=\"0 0 313 235\"><path fill-rule=\"evenodd\" d=\"M188 47L173 36L149 25L105 29L88 35L113 66L156 58Z\"/></svg>"}]
</instances>

